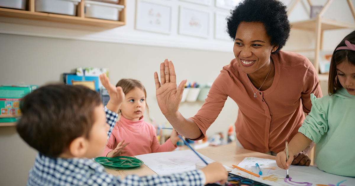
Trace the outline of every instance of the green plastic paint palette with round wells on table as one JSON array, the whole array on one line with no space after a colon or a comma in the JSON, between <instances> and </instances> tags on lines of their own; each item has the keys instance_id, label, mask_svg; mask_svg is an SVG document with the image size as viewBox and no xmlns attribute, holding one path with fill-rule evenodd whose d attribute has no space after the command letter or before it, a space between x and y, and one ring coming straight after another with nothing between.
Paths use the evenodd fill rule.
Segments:
<instances>
[{"instance_id":1,"label":"green plastic paint palette with round wells on table","mask_svg":"<svg viewBox=\"0 0 355 186\"><path fill-rule=\"evenodd\" d=\"M103 165L119 168L131 168L143 165L142 160L129 156L118 156L114 158L96 157L94 160L95 162L101 163Z\"/></svg>"}]
</instances>

